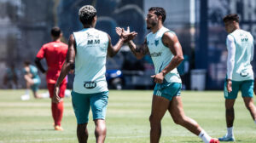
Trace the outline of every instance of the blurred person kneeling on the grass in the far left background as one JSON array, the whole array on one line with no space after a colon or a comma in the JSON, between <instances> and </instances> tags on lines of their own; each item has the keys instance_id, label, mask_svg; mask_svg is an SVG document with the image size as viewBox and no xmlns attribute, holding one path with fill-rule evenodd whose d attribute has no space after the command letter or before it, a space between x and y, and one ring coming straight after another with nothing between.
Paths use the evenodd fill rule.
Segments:
<instances>
[{"instance_id":1,"label":"blurred person kneeling on the grass in the far left background","mask_svg":"<svg viewBox=\"0 0 256 143\"><path fill-rule=\"evenodd\" d=\"M38 94L39 85L41 83L40 77L38 76L38 68L32 66L30 61L24 61L24 78L26 81L26 94L20 97L21 100L29 100L29 89L32 89L33 95L36 99L44 98L45 94Z\"/></svg>"}]
</instances>

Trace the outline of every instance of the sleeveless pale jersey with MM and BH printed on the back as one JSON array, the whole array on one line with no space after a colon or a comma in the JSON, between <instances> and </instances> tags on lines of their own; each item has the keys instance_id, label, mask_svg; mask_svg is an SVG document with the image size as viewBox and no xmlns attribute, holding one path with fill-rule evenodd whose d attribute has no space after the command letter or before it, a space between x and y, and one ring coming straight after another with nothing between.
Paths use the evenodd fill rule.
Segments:
<instances>
[{"instance_id":1,"label":"sleeveless pale jersey with MM and BH printed on the back","mask_svg":"<svg viewBox=\"0 0 256 143\"><path fill-rule=\"evenodd\" d=\"M108 34L95 28L73 32L76 42L75 77L73 91L94 94L108 91L106 59Z\"/></svg>"}]
</instances>

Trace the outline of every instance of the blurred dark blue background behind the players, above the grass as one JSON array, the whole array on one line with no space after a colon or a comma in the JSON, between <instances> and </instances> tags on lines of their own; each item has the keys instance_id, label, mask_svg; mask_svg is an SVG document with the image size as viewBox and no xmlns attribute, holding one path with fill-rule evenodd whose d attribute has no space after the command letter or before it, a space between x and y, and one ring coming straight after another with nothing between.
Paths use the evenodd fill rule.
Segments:
<instances>
[{"instance_id":1,"label":"blurred dark blue background behind the players, above the grass","mask_svg":"<svg viewBox=\"0 0 256 143\"><path fill-rule=\"evenodd\" d=\"M97 9L96 28L118 41L115 27L130 26L137 31L140 45L148 34L145 17L148 8L166 9L164 26L175 31L183 47L184 60L178 67L183 89L223 89L227 49L222 18L240 15L241 29L256 36L256 0L0 0L0 89L25 88L23 61L33 61L44 43L51 41L50 29L60 26L67 43L73 31L82 29L79 8L90 4ZM33 64L34 65L34 64ZM44 67L46 62L43 61ZM255 71L255 61L253 60ZM153 89L150 75L154 66L149 55L137 60L124 45L113 59L108 58L110 89ZM45 75L39 74L41 88ZM68 76L72 89L73 75Z\"/></svg>"}]
</instances>

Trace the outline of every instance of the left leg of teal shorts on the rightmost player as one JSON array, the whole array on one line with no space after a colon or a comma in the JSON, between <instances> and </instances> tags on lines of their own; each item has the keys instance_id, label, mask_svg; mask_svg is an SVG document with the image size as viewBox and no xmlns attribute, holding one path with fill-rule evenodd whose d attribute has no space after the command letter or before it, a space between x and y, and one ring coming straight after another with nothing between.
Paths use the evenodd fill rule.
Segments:
<instances>
[{"instance_id":1,"label":"left leg of teal shorts on the rightmost player","mask_svg":"<svg viewBox=\"0 0 256 143\"><path fill-rule=\"evenodd\" d=\"M227 82L224 82L224 98L227 100L236 100L241 82L232 81L232 91L228 92Z\"/></svg>"}]
</instances>

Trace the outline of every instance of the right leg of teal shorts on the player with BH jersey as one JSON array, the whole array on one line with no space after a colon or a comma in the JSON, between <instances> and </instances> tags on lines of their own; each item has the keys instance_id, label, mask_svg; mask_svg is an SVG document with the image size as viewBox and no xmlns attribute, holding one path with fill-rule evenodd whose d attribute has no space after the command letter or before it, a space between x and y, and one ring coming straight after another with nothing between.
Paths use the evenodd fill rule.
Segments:
<instances>
[{"instance_id":1,"label":"right leg of teal shorts on the player with BH jersey","mask_svg":"<svg viewBox=\"0 0 256 143\"><path fill-rule=\"evenodd\" d=\"M108 106L108 91L90 95L90 106L93 119L105 120Z\"/></svg>"}]
</instances>

